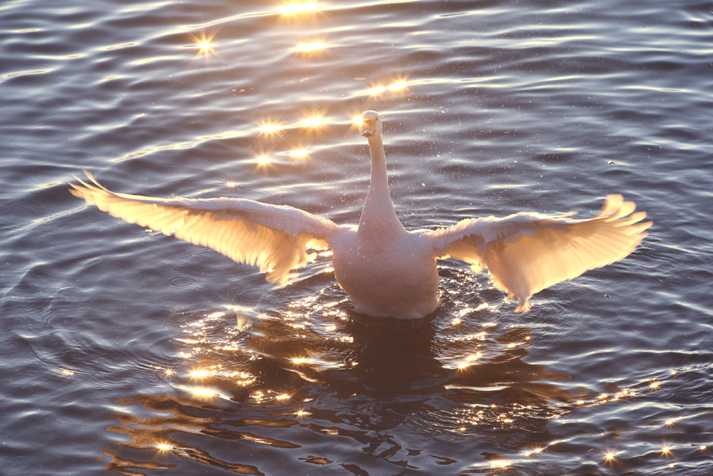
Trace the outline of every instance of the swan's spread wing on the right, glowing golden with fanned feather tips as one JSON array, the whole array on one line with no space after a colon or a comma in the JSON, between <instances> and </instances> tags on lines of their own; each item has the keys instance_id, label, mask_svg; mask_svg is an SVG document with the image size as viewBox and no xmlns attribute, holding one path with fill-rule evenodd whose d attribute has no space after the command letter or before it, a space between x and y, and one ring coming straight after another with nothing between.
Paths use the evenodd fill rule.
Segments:
<instances>
[{"instance_id":1,"label":"swan's spread wing on the right, glowing golden with fanned feather tips","mask_svg":"<svg viewBox=\"0 0 713 476\"><path fill-rule=\"evenodd\" d=\"M507 299L520 300L515 312L524 312L534 293L629 255L653 223L642 223L646 213L632 214L635 208L610 195L589 220L517 213L463 220L428 236L436 258L458 258L478 272L488 268Z\"/></svg>"}]
</instances>

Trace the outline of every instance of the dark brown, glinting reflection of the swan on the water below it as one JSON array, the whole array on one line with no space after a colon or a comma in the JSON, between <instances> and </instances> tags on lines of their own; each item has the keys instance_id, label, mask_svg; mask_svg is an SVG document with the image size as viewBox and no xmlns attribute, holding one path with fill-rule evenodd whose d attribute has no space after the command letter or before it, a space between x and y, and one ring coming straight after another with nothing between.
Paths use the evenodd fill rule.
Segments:
<instances>
[{"instance_id":1,"label":"dark brown, glinting reflection of the swan on the water below it","mask_svg":"<svg viewBox=\"0 0 713 476\"><path fill-rule=\"evenodd\" d=\"M298 291L287 310L254 314L247 329L235 330L233 313L186 321L205 351L191 357L193 373L167 378L173 393L117 400L134 410L109 416L128 442L105 448L107 469L302 474L304 463L336 461L356 475L384 465L404 474L424 467L423 452L438 458L434 438L467 442L471 457L541 447L545 422L568 411L574 395L543 380L569 377L526 363L513 342L530 329L483 323L493 312L482 303L444 299L424 320L374 319L353 313L332 283L314 292L323 284Z\"/></svg>"}]
</instances>

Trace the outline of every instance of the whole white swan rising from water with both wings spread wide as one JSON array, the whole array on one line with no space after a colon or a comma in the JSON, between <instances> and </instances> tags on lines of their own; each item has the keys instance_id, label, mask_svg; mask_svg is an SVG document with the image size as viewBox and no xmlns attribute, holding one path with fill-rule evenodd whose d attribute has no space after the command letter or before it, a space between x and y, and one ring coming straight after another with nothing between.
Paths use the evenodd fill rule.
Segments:
<instances>
[{"instance_id":1,"label":"whole white swan rising from water with both wings spread wide","mask_svg":"<svg viewBox=\"0 0 713 476\"><path fill-rule=\"evenodd\" d=\"M386 179L381 119L362 114L359 132L369 140L371 184L359 226L339 226L297 208L241 198L153 198L113 193L93 182L71 183L71 193L111 216L203 245L240 263L257 265L267 280L287 284L289 271L313 258L310 248L329 246L334 275L354 310L373 316L422 318L438 307L436 260L458 258L476 272L488 268L493 283L519 300L555 283L625 258L651 221L633 202L607 196L589 220L516 213L469 218L435 231L406 231L394 213ZM75 177L76 178L76 177Z\"/></svg>"}]
</instances>

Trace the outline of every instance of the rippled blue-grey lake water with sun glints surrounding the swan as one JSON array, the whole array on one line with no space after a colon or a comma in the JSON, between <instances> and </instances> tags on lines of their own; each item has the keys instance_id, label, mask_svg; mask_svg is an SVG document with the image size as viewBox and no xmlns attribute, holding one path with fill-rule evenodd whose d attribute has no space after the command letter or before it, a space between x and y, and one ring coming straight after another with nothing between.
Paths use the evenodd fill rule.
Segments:
<instances>
[{"instance_id":1,"label":"rippled blue-grey lake water with sun glints surrounding the swan","mask_svg":"<svg viewBox=\"0 0 713 476\"><path fill-rule=\"evenodd\" d=\"M3 1L0 473L711 474L712 9ZM404 323L326 253L277 288L67 191L356 223L366 109L407 228L622 193L651 234L525 314L444 260Z\"/></svg>"}]
</instances>

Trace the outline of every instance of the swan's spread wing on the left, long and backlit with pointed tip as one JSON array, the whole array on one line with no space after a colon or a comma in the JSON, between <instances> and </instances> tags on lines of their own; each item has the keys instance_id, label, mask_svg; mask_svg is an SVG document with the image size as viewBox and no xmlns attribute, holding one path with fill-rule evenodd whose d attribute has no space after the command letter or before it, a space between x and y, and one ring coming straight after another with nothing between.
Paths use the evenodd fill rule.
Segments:
<instances>
[{"instance_id":1,"label":"swan's spread wing on the left, long and backlit with pointed tip","mask_svg":"<svg viewBox=\"0 0 713 476\"><path fill-rule=\"evenodd\" d=\"M91 173L75 177L74 196L129 223L212 248L239 263L257 265L266 279L287 284L289 271L307 263L308 248L329 244L336 223L289 206L240 198L153 198L113 193Z\"/></svg>"}]
</instances>

